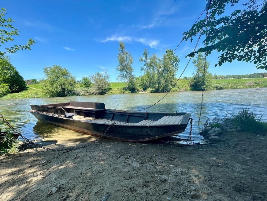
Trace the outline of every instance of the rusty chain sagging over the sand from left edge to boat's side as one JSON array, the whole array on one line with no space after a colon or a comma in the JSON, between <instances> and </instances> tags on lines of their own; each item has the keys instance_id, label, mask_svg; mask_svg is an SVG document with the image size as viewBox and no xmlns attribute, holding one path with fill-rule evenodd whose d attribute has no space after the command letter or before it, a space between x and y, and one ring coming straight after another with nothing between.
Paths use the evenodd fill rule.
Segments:
<instances>
[{"instance_id":1,"label":"rusty chain sagging over the sand from left edge to boat's side","mask_svg":"<svg viewBox=\"0 0 267 201\"><path fill-rule=\"evenodd\" d=\"M87 147L89 145L92 145L94 144L95 142L97 142L99 139L101 139L109 130L109 128L111 126L113 126L115 124L115 122L113 122L112 124L109 125L108 129L106 129L106 131L100 136L98 137L95 141L92 141L91 143L87 143L86 145L84 146L80 146L80 147L74 147L74 148L64 148L64 149L50 149L50 148L47 148L47 147L43 147L41 145L38 145L36 143L34 143L32 140L29 140L28 138L24 137L21 133L19 133L17 131L17 129L15 129L5 118L2 114L0 114L0 118L3 119L3 121L6 123L7 126L9 126L10 129L12 129L14 131L15 134L17 134L18 136L20 136L22 139L24 139L25 141L27 141L29 144L33 145L33 146L36 146L36 147L39 147L39 148L42 148L42 149L46 149L46 150L51 150L51 151L64 151L64 150L73 150L73 149L80 149L80 148L84 148L84 147Z\"/></svg>"}]
</instances>

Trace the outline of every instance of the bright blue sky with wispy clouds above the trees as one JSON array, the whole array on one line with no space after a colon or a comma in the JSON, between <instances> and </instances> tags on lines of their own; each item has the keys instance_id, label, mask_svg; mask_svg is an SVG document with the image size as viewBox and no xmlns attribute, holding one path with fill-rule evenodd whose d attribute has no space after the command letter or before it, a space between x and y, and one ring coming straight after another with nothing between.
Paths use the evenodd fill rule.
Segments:
<instances>
[{"instance_id":1,"label":"bright blue sky with wispy clouds above the trees","mask_svg":"<svg viewBox=\"0 0 267 201\"><path fill-rule=\"evenodd\" d=\"M106 69L111 82L117 81L119 41L132 53L134 74L142 75L139 57L144 49L162 56L166 48L176 48L182 33L191 28L205 6L205 0L9 0L1 3L7 10L6 17L12 18L13 25L20 30L20 36L8 45L25 44L29 38L37 42L31 51L8 54L24 79L40 79L44 77L43 68L61 65L78 80ZM180 58L177 76L183 71L188 61L185 56L192 51L195 41L183 42L176 50ZM213 74L266 72L245 62L214 67L218 56L213 52L207 57L209 72ZM182 77L192 76L193 71L191 62Z\"/></svg>"}]
</instances>

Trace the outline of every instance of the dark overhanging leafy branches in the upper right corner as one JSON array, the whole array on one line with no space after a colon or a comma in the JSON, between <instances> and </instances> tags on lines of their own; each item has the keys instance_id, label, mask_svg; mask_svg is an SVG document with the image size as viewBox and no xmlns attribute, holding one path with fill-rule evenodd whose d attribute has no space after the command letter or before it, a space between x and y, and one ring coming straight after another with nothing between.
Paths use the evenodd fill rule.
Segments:
<instances>
[{"instance_id":1,"label":"dark overhanging leafy branches in the upper right corner","mask_svg":"<svg viewBox=\"0 0 267 201\"><path fill-rule=\"evenodd\" d=\"M210 3L210 0L208 0ZM223 16L225 7L242 4L243 10L235 10L230 16ZM233 60L253 62L258 69L267 70L267 1L212 0L209 17L200 20L184 33L185 40L198 33L206 36L204 48L199 48L187 56L212 51L222 52L218 57L221 66Z\"/></svg>"}]
</instances>

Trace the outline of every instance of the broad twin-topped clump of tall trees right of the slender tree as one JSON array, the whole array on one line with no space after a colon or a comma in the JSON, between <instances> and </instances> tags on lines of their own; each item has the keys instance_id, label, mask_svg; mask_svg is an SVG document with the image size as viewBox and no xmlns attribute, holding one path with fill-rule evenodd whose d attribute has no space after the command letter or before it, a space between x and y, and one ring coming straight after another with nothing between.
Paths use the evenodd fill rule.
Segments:
<instances>
[{"instance_id":1,"label":"broad twin-topped clump of tall trees right of the slender tree","mask_svg":"<svg viewBox=\"0 0 267 201\"><path fill-rule=\"evenodd\" d=\"M148 78L148 87L152 88L154 92L170 90L180 62L178 56L171 49L166 49L162 58L156 54L149 57L149 52L145 49L139 61L144 63L141 70Z\"/></svg>"}]
</instances>

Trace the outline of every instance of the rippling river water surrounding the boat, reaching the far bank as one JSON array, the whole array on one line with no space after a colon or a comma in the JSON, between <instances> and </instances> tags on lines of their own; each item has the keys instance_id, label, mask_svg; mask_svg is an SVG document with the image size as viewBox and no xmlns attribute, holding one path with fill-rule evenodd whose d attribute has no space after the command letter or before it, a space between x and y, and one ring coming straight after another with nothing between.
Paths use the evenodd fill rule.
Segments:
<instances>
[{"instance_id":1,"label":"rippling river water surrounding the boat, reaching the far bank","mask_svg":"<svg viewBox=\"0 0 267 201\"><path fill-rule=\"evenodd\" d=\"M35 99L11 99L0 100L0 113L25 137L31 139L56 138L57 141L65 139L75 141L75 139L89 138L88 135L70 131L64 128L53 126L37 119L28 112L30 105L52 104L69 101L104 102L108 109L140 110L144 109L164 96L165 93L139 93L139 94L119 94L119 95L92 95L92 96L72 96L59 98L35 98ZM201 106L201 91L171 92L155 106L147 111L168 111L192 113L193 139L202 139L198 134L197 125ZM223 118L227 112L235 114L242 108L249 108L250 112L261 116L267 121L267 88L258 89L231 89L212 90L204 92L203 107L200 126L203 126L207 118ZM189 127L179 136L187 137ZM78 141L78 140L76 140Z\"/></svg>"}]
</instances>

